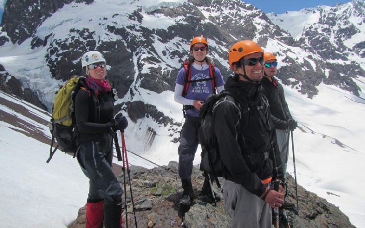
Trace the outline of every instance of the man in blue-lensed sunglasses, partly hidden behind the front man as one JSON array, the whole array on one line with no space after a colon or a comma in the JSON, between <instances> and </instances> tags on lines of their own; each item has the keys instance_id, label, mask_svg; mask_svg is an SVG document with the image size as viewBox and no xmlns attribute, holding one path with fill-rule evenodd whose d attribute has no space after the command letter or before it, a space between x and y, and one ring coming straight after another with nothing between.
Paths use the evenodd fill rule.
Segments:
<instances>
[{"instance_id":1,"label":"man in blue-lensed sunglasses, partly hidden behind the front man","mask_svg":"<svg viewBox=\"0 0 365 228\"><path fill-rule=\"evenodd\" d=\"M285 100L283 86L274 77L277 73L276 67L278 66L278 60L271 52L265 52L263 57L265 60L265 67L264 77L261 80L262 92L269 101L271 120L274 123L276 141L279 147L285 174L287 170L287 160L289 158L289 130L295 130L298 123L291 116L289 107ZM290 209L293 207L294 203L283 203L283 208Z\"/></svg>"}]
</instances>

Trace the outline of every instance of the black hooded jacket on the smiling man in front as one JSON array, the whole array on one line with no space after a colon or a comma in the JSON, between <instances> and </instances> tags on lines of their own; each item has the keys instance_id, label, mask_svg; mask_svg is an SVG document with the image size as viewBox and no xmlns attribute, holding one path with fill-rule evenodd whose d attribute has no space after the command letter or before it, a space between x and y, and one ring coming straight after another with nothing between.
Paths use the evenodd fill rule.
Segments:
<instances>
[{"instance_id":1,"label":"black hooded jacket on the smiling man in front","mask_svg":"<svg viewBox=\"0 0 365 228\"><path fill-rule=\"evenodd\" d=\"M260 87L229 77L225 89L235 98L223 97L214 109L215 134L225 166L223 176L259 197L266 188L261 180L284 177L269 106Z\"/></svg>"}]
</instances>

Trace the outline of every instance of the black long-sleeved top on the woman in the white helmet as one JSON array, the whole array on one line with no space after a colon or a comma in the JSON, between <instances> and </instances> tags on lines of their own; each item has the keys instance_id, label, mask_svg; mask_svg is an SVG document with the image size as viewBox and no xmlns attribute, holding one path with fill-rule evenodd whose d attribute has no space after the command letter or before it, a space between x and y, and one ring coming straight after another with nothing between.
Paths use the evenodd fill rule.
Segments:
<instances>
[{"instance_id":1,"label":"black long-sleeved top on the woman in the white helmet","mask_svg":"<svg viewBox=\"0 0 365 228\"><path fill-rule=\"evenodd\" d=\"M91 93L88 89L80 89L75 97L77 146L93 140L103 141L105 134L112 132L114 103L111 92Z\"/></svg>"}]
</instances>

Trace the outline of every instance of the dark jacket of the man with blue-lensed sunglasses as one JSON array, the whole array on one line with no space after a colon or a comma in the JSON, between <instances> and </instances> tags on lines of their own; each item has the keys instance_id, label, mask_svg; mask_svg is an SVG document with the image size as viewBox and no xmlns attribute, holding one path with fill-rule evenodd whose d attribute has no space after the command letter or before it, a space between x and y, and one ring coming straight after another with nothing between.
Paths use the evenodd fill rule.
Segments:
<instances>
[{"instance_id":1,"label":"dark jacket of the man with blue-lensed sunglasses","mask_svg":"<svg viewBox=\"0 0 365 228\"><path fill-rule=\"evenodd\" d=\"M285 101L283 86L275 78L272 79L276 82L276 86L267 77L262 78L262 92L269 101L271 120L275 129L285 130L287 121L292 119L292 116Z\"/></svg>"}]
</instances>

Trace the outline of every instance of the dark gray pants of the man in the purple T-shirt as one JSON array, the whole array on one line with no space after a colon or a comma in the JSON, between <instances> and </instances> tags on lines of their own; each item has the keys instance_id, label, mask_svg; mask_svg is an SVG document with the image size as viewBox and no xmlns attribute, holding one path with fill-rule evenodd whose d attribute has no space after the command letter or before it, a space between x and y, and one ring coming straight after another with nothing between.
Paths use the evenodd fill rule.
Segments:
<instances>
[{"instance_id":1,"label":"dark gray pants of the man in the purple T-shirt","mask_svg":"<svg viewBox=\"0 0 365 228\"><path fill-rule=\"evenodd\" d=\"M198 130L200 118L186 116L185 123L180 132L179 153L179 176L181 179L191 177L193 171L193 161L198 148Z\"/></svg>"}]
</instances>

